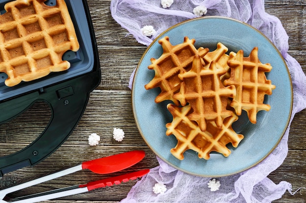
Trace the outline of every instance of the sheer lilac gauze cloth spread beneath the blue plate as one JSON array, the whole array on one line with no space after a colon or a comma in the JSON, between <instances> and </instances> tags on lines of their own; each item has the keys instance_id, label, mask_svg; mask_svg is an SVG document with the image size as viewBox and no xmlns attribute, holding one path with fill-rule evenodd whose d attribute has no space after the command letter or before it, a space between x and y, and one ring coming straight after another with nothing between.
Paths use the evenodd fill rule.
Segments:
<instances>
[{"instance_id":1,"label":"sheer lilac gauze cloth spread beneath the blue plate","mask_svg":"<svg viewBox=\"0 0 306 203\"><path fill-rule=\"evenodd\" d=\"M112 0L110 10L114 20L139 43L149 45L167 28L180 21L196 18L193 9L197 5L207 7L206 16L230 17L252 25L280 50L293 84L291 123L295 113L306 108L306 76L300 64L287 53L288 36L281 21L265 13L264 0L175 0L169 8L163 8L160 0ZM156 33L152 37L141 33L145 25L153 25ZM270 203L281 198L286 190L292 194L290 183L282 181L276 184L267 178L287 156L288 134L289 127L282 141L261 163L242 173L217 178L221 186L215 192L210 191L207 185L211 178L183 173L157 157L160 165L138 181L121 203ZM164 194L153 193L155 183L165 184L167 191Z\"/></svg>"}]
</instances>

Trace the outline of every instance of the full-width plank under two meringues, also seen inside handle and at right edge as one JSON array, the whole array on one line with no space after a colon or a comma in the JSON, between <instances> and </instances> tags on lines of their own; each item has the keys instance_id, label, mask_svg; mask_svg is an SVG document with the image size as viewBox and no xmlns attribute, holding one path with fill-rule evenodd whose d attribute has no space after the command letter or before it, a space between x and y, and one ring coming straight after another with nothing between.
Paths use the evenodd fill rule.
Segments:
<instances>
[{"instance_id":1,"label":"full-width plank under two meringues, also seen inside handle and at right edge","mask_svg":"<svg viewBox=\"0 0 306 203\"><path fill-rule=\"evenodd\" d=\"M41 109L38 109L40 108ZM2 144L29 144L43 130L50 118L50 112L43 103L38 103L18 117L13 122L2 124L0 128L0 143ZM34 113L37 110L36 113ZM303 123L306 121L306 110L298 113L291 124L289 134L290 149L305 149L306 131ZM39 114L39 117L35 115ZM42 122L43 115L46 115ZM26 122L30 121L30 122ZM26 126L26 127L25 127ZM112 138L113 128L125 131L125 139L117 142ZM90 95L86 111L66 144L87 145L87 138L91 133L101 136L102 145L139 145L146 146L136 127L131 106L131 91L100 91L94 90ZM11 153L0 149L2 154Z\"/></svg>"}]
</instances>

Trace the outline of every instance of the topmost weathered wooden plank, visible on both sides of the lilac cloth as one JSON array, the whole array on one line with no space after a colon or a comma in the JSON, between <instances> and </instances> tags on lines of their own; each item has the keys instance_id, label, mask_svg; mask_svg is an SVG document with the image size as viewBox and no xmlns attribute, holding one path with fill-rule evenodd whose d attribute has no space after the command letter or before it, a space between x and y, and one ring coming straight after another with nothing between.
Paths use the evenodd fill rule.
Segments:
<instances>
[{"instance_id":1,"label":"topmost weathered wooden plank, visible on both sides of the lilac cloth","mask_svg":"<svg viewBox=\"0 0 306 203\"><path fill-rule=\"evenodd\" d=\"M98 45L143 46L111 17L110 1L88 0L88 4ZM283 22L289 36L290 49L305 50L305 31L299 29L306 23L304 5L300 1L284 3L271 0L266 2L265 10Z\"/></svg>"}]
</instances>

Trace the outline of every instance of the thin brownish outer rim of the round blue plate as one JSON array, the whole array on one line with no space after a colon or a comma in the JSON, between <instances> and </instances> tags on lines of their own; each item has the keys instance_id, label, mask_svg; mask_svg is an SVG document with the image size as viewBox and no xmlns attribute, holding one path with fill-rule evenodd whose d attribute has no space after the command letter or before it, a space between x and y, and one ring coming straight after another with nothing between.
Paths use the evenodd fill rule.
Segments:
<instances>
[{"instance_id":1,"label":"thin brownish outer rim of the round blue plate","mask_svg":"<svg viewBox=\"0 0 306 203\"><path fill-rule=\"evenodd\" d=\"M284 63L284 66L286 68L286 72L287 72L287 75L288 75L288 79L289 79L289 82L290 82L290 94L291 94L291 100L290 100L290 109L289 109L289 115L287 117L287 121L286 121L286 124L284 126L284 130L282 132L282 135L280 136L279 140L277 141L277 143L272 147L272 149L265 155L262 157L262 159L260 159L259 161L255 162L254 164L250 165L250 166L247 166L241 170L237 170L233 173L228 173L228 174L221 174L221 175L215 175L214 177L225 177L225 176L230 176L230 175L234 175L234 174L238 174L240 172L243 172L243 171L246 171L252 167L254 167L255 165L257 165L258 163L262 162L266 157L268 157L272 151L278 146L278 144L281 142L281 140L283 139L284 137L284 134L289 126L289 123L290 123L290 119L291 119L291 116L292 116L292 109L293 109L293 84L292 84L292 79L291 79L291 75L290 75L290 71L288 69L288 66L287 66L287 63L285 62L284 60L284 57L282 56L281 52L278 50L278 48L273 44L272 41L270 41L265 35L262 34L261 31L259 31L258 29L254 28L253 26L251 26L250 24L247 24L243 21L240 21L240 20L237 20L237 19L232 19L232 18L228 18L228 17L221 17L221 16L205 16L205 17L198 17L198 18L194 18L194 19L188 19L188 20L184 20L184 21L181 21L171 27L169 27L168 29L166 29L164 32L162 32L161 34L159 34L152 42L151 44L147 47L147 49L145 50L145 52L143 53L143 55L141 56L138 64L137 64L137 67L135 68L134 70L134 75L133 75L133 81L132 81L132 86L131 86L131 104L132 104L132 112L133 112L133 117L134 117L134 120L135 120L135 123L136 123L136 126L137 126L137 129L138 129L138 132L140 133L142 139L144 140L144 142L146 142L147 146L150 148L151 151L153 151L153 153L158 156L159 159L161 159L162 161L166 162L167 164L169 164L170 166L174 167L175 169L177 170L180 170L182 172L185 172L187 174L191 174L191 175L195 175L195 176L200 176L200 177L211 177L209 175L203 175L203 174L198 174L198 173L193 173L193 172L190 172L188 170L185 170L185 169L182 169L178 166L176 166L175 164L169 162L167 159L164 159L163 156L160 155L160 153L156 152L155 150L152 149L151 147L151 144L149 144L147 142L147 140L145 139L145 136L143 135L143 132L140 128L140 124L139 124L139 121L137 119L137 115L136 115L136 110L135 110L135 101L134 101L134 95L135 95L135 92L134 92L134 89L135 89L135 78L139 72L139 69L140 69L140 65L143 61L143 58L146 56L147 52L151 49L151 47L153 46L153 44L156 43L156 41L160 40L161 36L163 36L165 33L167 33L168 31L174 29L175 27L178 27L178 26L181 26L182 24L185 24L185 23L188 23L190 21L195 21L195 20L205 20L205 19L224 19L224 20L232 20L232 21L236 21L238 23L241 23L245 26L248 26L249 28L251 28L252 30L254 30L255 32L259 33L260 35L262 35L262 37L264 37L275 49L275 51L277 52L277 54L281 57L283 63ZM153 101L154 102L154 101ZM170 149L169 149L170 150Z\"/></svg>"}]
</instances>

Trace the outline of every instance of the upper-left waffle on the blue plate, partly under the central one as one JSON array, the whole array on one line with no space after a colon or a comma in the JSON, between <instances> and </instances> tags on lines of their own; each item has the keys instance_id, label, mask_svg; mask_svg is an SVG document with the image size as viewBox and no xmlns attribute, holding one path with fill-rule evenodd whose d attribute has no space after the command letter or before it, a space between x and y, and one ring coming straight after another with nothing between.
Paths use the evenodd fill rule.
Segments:
<instances>
[{"instance_id":1,"label":"upper-left waffle on the blue plate, partly under the central one","mask_svg":"<svg viewBox=\"0 0 306 203\"><path fill-rule=\"evenodd\" d=\"M195 40L190 40L188 37L184 38L183 43L175 46L170 43L169 37L164 37L158 42L162 45L163 54L158 59L151 59L152 64L148 68L155 71L155 76L145 85L145 88L160 87L161 92L155 98L156 103L171 100L179 105L179 102L173 98L173 95L180 88L181 80L178 78L178 74L191 68L196 54L203 57L209 50L202 47L196 49Z\"/></svg>"}]
</instances>

